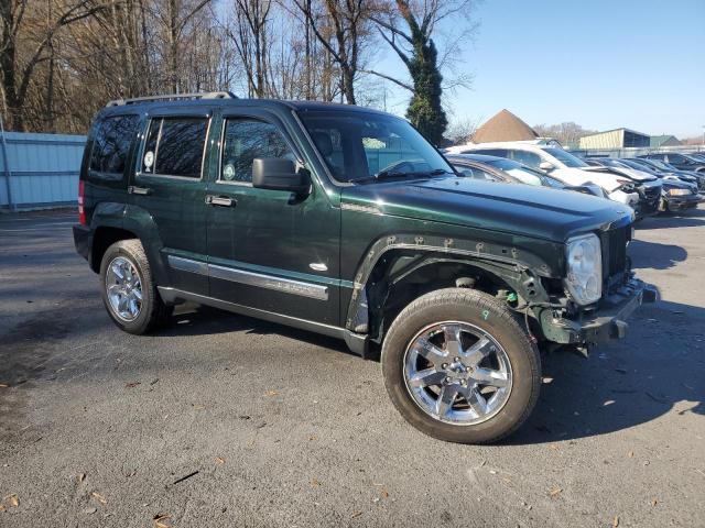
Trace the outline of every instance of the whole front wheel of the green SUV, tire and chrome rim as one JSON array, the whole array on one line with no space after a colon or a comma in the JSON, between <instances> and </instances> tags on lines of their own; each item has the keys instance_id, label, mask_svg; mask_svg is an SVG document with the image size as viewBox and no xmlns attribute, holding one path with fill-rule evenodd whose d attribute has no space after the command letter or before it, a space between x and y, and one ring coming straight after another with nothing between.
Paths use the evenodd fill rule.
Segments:
<instances>
[{"instance_id":1,"label":"whole front wheel of the green SUV, tire and chrome rim","mask_svg":"<svg viewBox=\"0 0 705 528\"><path fill-rule=\"evenodd\" d=\"M503 302L447 288L423 295L394 319L382 374L397 409L422 432L488 443L512 433L533 410L541 360Z\"/></svg>"}]
</instances>

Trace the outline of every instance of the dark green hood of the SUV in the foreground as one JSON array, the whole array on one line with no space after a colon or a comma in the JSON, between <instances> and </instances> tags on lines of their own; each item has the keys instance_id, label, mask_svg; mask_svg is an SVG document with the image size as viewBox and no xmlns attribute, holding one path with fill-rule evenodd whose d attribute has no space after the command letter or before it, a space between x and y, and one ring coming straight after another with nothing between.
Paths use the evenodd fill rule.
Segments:
<instances>
[{"instance_id":1,"label":"dark green hood of the SUV in the foreground","mask_svg":"<svg viewBox=\"0 0 705 528\"><path fill-rule=\"evenodd\" d=\"M627 206L581 193L460 177L346 187L341 206L553 242L610 224L623 226L633 216Z\"/></svg>"}]
</instances>

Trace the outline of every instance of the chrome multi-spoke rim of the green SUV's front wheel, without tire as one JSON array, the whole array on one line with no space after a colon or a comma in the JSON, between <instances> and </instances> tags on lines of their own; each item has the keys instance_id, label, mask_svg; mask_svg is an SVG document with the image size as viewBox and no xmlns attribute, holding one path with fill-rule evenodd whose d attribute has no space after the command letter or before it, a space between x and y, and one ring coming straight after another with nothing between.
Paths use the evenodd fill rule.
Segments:
<instances>
[{"instance_id":1,"label":"chrome multi-spoke rim of the green SUV's front wheel, without tire","mask_svg":"<svg viewBox=\"0 0 705 528\"><path fill-rule=\"evenodd\" d=\"M489 420L511 393L505 349L480 328L458 321L421 330L404 353L404 382L421 409L446 424Z\"/></svg>"}]
</instances>

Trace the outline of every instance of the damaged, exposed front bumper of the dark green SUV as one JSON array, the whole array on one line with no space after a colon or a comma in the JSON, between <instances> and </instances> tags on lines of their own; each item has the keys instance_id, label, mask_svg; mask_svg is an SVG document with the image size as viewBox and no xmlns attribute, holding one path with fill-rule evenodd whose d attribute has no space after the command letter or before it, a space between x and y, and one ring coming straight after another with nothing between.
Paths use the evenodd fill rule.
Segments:
<instances>
[{"instance_id":1,"label":"damaged, exposed front bumper of the dark green SUV","mask_svg":"<svg viewBox=\"0 0 705 528\"><path fill-rule=\"evenodd\" d=\"M599 344L627 336L627 319L643 302L657 300L657 290L639 280L630 279L619 290L603 299L600 307L581 319L553 320L552 340L558 343Z\"/></svg>"}]
</instances>

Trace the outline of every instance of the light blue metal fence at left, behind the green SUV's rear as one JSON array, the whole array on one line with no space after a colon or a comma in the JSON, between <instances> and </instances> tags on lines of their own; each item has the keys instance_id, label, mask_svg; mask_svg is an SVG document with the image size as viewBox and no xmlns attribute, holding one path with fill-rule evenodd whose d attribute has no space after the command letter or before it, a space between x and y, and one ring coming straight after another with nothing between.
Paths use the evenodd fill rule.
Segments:
<instances>
[{"instance_id":1,"label":"light blue metal fence at left, behind the green SUV's rear","mask_svg":"<svg viewBox=\"0 0 705 528\"><path fill-rule=\"evenodd\" d=\"M1 209L76 204L85 135L4 132L0 141Z\"/></svg>"}]
</instances>

